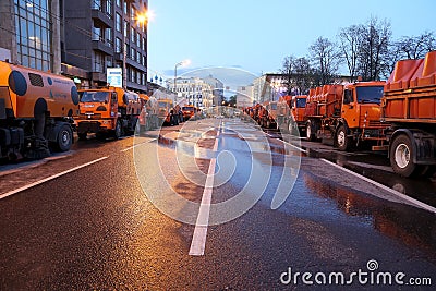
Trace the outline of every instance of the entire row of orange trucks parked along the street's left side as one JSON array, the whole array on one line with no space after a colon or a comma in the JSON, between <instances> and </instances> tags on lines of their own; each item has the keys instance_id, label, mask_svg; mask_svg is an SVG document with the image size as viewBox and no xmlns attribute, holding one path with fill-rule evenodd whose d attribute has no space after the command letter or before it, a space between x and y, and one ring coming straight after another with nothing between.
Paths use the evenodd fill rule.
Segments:
<instances>
[{"instance_id":1,"label":"entire row of orange trucks parked along the street's left side","mask_svg":"<svg viewBox=\"0 0 436 291\"><path fill-rule=\"evenodd\" d=\"M71 78L0 61L0 159L43 158L66 151L87 134L119 138L136 130L178 124L195 107L118 87L77 90Z\"/></svg>"}]
</instances>

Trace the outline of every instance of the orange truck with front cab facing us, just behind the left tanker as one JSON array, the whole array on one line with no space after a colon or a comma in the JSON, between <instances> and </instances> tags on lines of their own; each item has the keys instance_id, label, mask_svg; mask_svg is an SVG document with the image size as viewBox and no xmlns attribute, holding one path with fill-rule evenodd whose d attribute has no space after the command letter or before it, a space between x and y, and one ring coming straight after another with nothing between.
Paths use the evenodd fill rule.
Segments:
<instances>
[{"instance_id":1,"label":"orange truck with front cab facing us, just behind the left tanker","mask_svg":"<svg viewBox=\"0 0 436 291\"><path fill-rule=\"evenodd\" d=\"M119 138L135 131L142 109L137 94L110 86L78 90L78 96L81 112L75 121L81 140L88 133Z\"/></svg>"}]
</instances>

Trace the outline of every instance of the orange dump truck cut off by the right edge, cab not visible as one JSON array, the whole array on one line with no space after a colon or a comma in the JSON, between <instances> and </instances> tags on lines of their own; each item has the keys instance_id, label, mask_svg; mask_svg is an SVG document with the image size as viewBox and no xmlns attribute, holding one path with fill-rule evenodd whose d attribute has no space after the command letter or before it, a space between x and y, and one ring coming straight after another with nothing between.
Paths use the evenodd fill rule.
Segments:
<instances>
[{"instance_id":1,"label":"orange dump truck cut off by the right edge, cab not visible","mask_svg":"<svg viewBox=\"0 0 436 291\"><path fill-rule=\"evenodd\" d=\"M395 172L433 174L436 170L436 51L425 59L397 62L382 101L389 158Z\"/></svg>"}]
</instances>

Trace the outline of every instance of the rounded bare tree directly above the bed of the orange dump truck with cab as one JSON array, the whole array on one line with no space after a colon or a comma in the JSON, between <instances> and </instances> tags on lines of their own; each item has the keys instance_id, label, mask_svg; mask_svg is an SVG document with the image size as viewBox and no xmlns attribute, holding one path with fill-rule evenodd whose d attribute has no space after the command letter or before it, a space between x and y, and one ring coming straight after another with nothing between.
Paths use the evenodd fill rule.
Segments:
<instances>
[{"instance_id":1,"label":"rounded bare tree directly above the bed of the orange dump truck with cab","mask_svg":"<svg viewBox=\"0 0 436 291\"><path fill-rule=\"evenodd\" d=\"M318 37L310 47L314 69L319 74L319 85L329 84L337 75L340 53L337 46L328 38Z\"/></svg>"}]
</instances>

